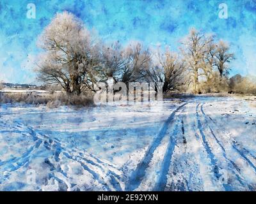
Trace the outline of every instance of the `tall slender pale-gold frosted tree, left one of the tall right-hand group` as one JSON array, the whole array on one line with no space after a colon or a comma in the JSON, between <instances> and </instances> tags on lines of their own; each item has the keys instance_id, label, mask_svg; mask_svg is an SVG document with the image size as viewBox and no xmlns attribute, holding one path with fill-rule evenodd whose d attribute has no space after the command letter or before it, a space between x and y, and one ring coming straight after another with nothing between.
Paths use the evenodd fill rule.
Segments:
<instances>
[{"instance_id":1,"label":"tall slender pale-gold frosted tree, left one of the tall right-hand group","mask_svg":"<svg viewBox=\"0 0 256 204\"><path fill-rule=\"evenodd\" d=\"M212 37L205 37L203 33L191 29L182 41L182 54L190 73L189 83L193 83L193 91L198 93L199 77L204 75L204 57L206 48L212 42Z\"/></svg>"}]
</instances>

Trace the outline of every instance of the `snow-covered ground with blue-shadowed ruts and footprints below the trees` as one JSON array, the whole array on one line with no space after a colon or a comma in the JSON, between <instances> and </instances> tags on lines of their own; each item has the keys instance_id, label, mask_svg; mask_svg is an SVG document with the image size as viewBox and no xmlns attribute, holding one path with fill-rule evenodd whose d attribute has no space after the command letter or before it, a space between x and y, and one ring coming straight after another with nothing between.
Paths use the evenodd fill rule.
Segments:
<instances>
[{"instance_id":1,"label":"snow-covered ground with blue-shadowed ruts and footprints below the trees","mask_svg":"<svg viewBox=\"0 0 256 204\"><path fill-rule=\"evenodd\" d=\"M0 106L0 191L255 191L256 99Z\"/></svg>"}]
</instances>

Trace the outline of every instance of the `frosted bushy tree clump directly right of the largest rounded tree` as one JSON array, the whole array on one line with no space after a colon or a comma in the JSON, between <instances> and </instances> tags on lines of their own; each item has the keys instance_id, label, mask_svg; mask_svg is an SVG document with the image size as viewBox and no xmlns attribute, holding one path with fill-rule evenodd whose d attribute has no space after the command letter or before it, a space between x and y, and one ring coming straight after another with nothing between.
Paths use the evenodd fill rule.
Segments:
<instances>
[{"instance_id":1,"label":"frosted bushy tree clump directly right of the largest rounded tree","mask_svg":"<svg viewBox=\"0 0 256 204\"><path fill-rule=\"evenodd\" d=\"M136 41L130 41L122 47L119 41L110 46L102 46L100 82L113 78L113 83L145 82L147 71L151 66L151 54L148 48Z\"/></svg>"}]
</instances>

